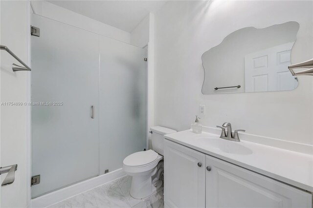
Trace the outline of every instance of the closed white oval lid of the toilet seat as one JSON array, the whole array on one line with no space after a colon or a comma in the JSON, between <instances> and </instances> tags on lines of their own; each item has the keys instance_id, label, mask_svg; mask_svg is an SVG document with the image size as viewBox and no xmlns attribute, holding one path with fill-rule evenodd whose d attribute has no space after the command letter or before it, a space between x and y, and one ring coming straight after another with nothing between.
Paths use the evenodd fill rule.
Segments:
<instances>
[{"instance_id":1,"label":"closed white oval lid of the toilet seat","mask_svg":"<svg viewBox=\"0 0 313 208\"><path fill-rule=\"evenodd\" d=\"M156 160L158 154L149 149L147 151L135 152L127 156L123 163L126 166L144 166Z\"/></svg>"}]
</instances>

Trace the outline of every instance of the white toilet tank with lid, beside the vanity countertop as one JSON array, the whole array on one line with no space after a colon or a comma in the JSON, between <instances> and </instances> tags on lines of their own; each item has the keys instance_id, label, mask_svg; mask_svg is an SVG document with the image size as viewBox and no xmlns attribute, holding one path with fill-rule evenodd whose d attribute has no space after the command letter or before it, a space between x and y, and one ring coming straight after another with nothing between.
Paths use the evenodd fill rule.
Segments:
<instances>
[{"instance_id":1,"label":"white toilet tank with lid, beside the vanity countertop","mask_svg":"<svg viewBox=\"0 0 313 208\"><path fill-rule=\"evenodd\" d=\"M154 126L151 127L150 130L152 132L151 134L152 149L155 150L160 155L163 155L164 135L175 133L177 131L162 126Z\"/></svg>"}]
</instances>

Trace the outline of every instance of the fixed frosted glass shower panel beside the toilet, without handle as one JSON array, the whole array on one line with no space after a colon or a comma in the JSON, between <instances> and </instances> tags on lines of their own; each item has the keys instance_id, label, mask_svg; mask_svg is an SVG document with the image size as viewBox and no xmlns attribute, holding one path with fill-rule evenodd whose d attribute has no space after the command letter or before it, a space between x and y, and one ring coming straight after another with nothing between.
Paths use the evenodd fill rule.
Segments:
<instances>
[{"instance_id":1,"label":"fixed frosted glass shower panel beside the toilet, without handle","mask_svg":"<svg viewBox=\"0 0 313 208\"><path fill-rule=\"evenodd\" d=\"M116 170L146 148L146 50L99 37L100 174Z\"/></svg>"}]
</instances>

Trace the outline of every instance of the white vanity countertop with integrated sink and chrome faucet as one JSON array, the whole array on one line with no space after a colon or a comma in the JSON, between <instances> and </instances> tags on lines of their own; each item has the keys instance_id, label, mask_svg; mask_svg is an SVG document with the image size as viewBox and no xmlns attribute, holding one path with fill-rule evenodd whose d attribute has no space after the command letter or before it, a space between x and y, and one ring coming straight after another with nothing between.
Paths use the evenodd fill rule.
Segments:
<instances>
[{"instance_id":1,"label":"white vanity countertop with integrated sink and chrome faucet","mask_svg":"<svg viewBox=\"0 0 313 208\"><path fill-rule=\"evenodd\" d=\"M220 135L191 130L165 135L165 139L217 157L229 163L266 175L278 181L313 192L313 155L265 146L247 141L232 142L219 138ZM206 140L223 140L225 146L235 146L242 154L227 153L210 146Z\"/></svg>"}]
</instances>

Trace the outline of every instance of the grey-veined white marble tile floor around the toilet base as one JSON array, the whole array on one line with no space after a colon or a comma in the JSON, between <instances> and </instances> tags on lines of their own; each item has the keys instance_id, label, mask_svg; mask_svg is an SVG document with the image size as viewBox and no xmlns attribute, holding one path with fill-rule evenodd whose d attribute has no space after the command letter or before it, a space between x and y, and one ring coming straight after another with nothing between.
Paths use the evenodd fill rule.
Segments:
<instances>
[{"instance_id":1,"label":"grey-veined white marble tile floor around the toilet base","mask_svg":"<svg viewBox=\"0 0 313 208\"><path fill-rule=\"evenodd\" d=\"M134 199L129 191L132 178L123 176L48 208L164 208L163 188L144 199Z\"/></svg>"}]
</instances>

